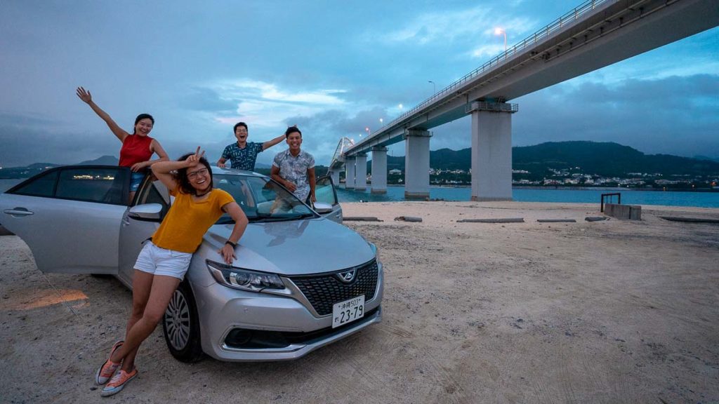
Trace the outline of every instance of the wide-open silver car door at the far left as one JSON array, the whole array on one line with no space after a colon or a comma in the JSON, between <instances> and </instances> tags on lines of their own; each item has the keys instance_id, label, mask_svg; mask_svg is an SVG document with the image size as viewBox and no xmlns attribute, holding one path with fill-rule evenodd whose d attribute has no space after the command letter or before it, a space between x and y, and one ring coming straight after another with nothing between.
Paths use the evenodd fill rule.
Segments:
<instances>
[{"instance_id":1,"label":"wide-open silver car door at the far left","mask_svg":"<svg viewBox=\"0 0 719 404\"><path fill-rule=\"evenodd\" d=\"M117 274L128 167L52 168L0 195L0 224L27 243L42 272Z\"/></svg>"}]
</instances>

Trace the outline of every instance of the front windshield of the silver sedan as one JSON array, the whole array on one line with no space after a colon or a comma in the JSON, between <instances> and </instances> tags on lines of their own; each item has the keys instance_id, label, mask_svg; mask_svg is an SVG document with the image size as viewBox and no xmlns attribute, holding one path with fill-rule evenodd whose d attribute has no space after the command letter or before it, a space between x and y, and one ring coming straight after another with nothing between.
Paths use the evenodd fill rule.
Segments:
<instances>
[{"instance_id":1,"label":"front windshield of the silver sedan","mask_svg":"<svg viewBox=\"0 0 719 404\"><path fill-rule=\"evenodd\" d=\"M253 175L212 176L214 186L226 190L249 221L286 221L315 217L315 213L292 193L266 177ZM217 224L232 224L224 214Z\"/></svg>"}]
</instances>

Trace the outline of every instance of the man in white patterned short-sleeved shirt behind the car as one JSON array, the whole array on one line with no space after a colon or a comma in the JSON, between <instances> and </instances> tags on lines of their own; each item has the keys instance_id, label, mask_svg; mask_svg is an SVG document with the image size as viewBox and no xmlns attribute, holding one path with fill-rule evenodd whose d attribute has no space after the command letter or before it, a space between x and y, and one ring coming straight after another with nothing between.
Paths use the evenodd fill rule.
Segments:
<instances>
[{"instance_id":1,"label":"man in white patterned short-sleeved shirt behind the car","mask_svg":"<svg viewBox=\"0 0 719 404\"><path fill-rule=\"evenodd\" d=\"M285 131L288 150L279 152L272 163L273 180L284 185L301 201L316 202L314 157L300 149L302 132L297 127L288 127Z\"/></svg>"}]
</instances>

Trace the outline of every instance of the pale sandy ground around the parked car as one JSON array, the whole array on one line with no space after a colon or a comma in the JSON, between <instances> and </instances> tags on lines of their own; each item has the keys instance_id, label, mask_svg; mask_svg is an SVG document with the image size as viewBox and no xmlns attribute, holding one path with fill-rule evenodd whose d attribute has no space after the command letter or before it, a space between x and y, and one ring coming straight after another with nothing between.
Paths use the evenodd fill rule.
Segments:
<instances>
[{"instance_id":1,"label":"pale sandy ground around the parked car","mask_svg":"<svg viewBox=\"0 0 719 404\"><path fill-rule=\"evenodd\" d=\"M719 403L716 209L348 203L377 244L384 321L295 362L176 362L161 328L114 403ZM394 221L419 216L421 223ZM517 218L525 223L457 223ZM576 219L539 224L536 219ZM94 403L93 372L122 336L114 278L42 275L0 237L0 402Z\"/></svg>"}]
</instances>

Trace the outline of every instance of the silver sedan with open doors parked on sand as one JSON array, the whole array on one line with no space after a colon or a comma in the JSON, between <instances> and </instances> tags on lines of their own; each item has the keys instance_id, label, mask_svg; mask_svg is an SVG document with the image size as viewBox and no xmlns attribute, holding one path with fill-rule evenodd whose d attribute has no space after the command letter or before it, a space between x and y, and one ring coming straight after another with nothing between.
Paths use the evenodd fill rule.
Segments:
<instances>
[{"instance_id":1,"label":"silver sedan with open doors parked on sand","mask_svg":"<svg viewBox=\"0 0 719 404\"><path fill-rule=\"evenodd\" d=\"M249 219L237 260L217 250L223 216L204 235L162 330L170 353L228 361L296 359L382 319L377 249L342 226L331 180L315 209L265 175L213 168L214 186ZM132 287L134 261L172 203L145 178L133 201L127 167L56 167L0 195L0 224L24 239L42 272L111 274Z\"/></svg>"}]
</instances>

